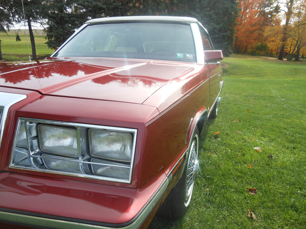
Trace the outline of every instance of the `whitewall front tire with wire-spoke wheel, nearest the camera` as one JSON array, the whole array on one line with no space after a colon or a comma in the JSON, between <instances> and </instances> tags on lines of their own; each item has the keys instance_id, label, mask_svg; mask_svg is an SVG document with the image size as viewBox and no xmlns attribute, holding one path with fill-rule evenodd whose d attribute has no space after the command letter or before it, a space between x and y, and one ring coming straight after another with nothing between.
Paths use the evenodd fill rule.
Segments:
<instances>
[{"instance_id":1,"label":"whitewall front tire with wire-spoke wheel, nearest the camera","mask_svg":"<svg viewBox=\"0 0 306 229\"><path fill-rule=\"evenodd\" d=\"M191 201L196 171L198 168L199 131L197 127L192 135L184 172L171 190L160 208L159 214L171 219L182 218Z\"/></svg>"}]
</instances>

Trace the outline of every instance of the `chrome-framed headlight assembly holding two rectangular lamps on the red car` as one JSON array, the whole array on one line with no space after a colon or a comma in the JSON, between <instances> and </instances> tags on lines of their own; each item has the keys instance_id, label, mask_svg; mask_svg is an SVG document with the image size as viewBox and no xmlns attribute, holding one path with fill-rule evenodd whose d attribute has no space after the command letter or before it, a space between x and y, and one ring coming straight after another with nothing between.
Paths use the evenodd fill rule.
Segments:
<instances>
[{"instance_id":1,"label":"chrome-framed headlight assembly holding two rectangular lamps on the red car","mask_svg":"<svg viewBox=\"0 0 306 229\"><path fill-rule=\"evenodd\" d=\"M19 118L10 167L130 183L136 129Z\"/></svg>"}]
</instances>

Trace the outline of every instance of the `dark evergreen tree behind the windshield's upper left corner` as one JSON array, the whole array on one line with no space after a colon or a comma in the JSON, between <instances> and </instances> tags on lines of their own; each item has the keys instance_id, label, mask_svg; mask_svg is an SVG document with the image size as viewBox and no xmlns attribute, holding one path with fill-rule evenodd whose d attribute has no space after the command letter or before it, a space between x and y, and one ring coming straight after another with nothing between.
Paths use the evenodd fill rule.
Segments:
<instances>
[{"instance_id":1,"label":"dark evergreen tree behind the windshield's upper left corner","mask_svg":"<svg viewBox=\"0 0 306 229\"><path fill-rule=\"evenodd\" d=\"M57 48L85 21L96 17L127 15L131 1L46 0L46 44Z\"/></svg>"}]
</instances>

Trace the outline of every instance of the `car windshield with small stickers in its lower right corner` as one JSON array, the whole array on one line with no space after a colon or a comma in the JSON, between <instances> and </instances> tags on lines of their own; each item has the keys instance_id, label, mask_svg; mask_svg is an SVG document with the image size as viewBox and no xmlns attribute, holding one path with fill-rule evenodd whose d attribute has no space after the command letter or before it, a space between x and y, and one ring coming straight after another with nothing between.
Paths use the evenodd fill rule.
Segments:
<instances>
[{"instance_id":1,"label":"car windshield with small stickers in its lower right corner","mask_svg":"<svg viewBox=\"0 0 306 229\"><path fill-rule=\"evenodd\" d=\"M99 56L196 62L189 24L92 24L54 56Z\"/></svg>"}]
</instances>

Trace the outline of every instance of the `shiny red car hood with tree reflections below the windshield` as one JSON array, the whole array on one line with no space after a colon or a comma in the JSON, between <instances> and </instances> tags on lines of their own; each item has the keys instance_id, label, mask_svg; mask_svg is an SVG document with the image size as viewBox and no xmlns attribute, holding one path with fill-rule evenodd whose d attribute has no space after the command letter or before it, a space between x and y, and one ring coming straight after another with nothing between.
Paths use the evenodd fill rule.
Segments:
<instances>
[{"instance_id":1,"label":"shiny red car hood with tree reflections below the windshield","mask_svg":"<svg viewBox=\"0 0 306 229\"><path fill-rule=\"evenodd\" d=\"M0 65L0 85L43 95L143 103L192 65L107 58L53 58Z\"/></svg>"}]
</instances>

